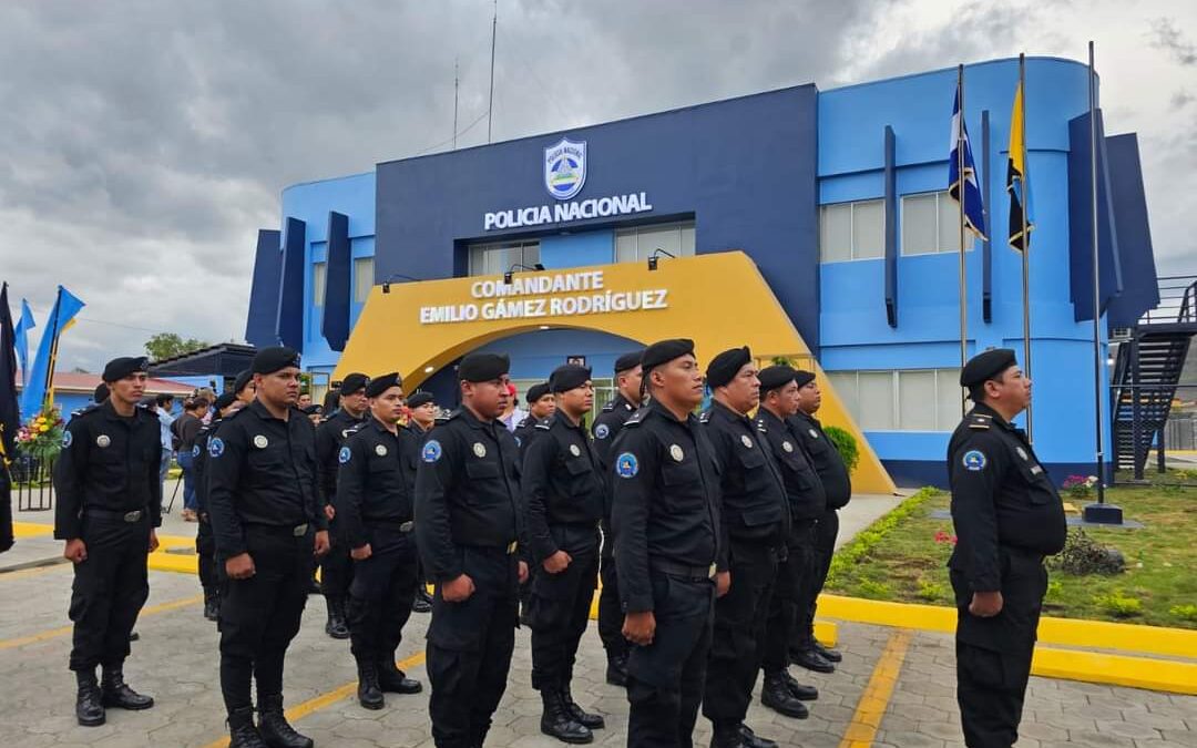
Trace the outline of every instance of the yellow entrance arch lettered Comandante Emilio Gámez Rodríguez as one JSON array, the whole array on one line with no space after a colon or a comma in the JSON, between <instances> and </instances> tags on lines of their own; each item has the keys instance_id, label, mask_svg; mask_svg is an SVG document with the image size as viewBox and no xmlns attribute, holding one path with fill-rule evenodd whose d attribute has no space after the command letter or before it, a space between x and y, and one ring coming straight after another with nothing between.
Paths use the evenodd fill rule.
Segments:
<instances>
[{"instance_id":1,"label":"yellow entrance arch lettered Comandante Emilio G\u00e1mez Rodr\u00edguez","mask_svg":"<svg viewBox=\"0 0 1197 748\"><path fill-rule=\"evenodd\" d=\"M822 369L813 360L810 349L760 270L743 253L727 251L676 260L663 257L656 270L640 262L620 262L519 273L516 278L547 279L540 281L546 284L553 280L559 284L579 281L583 288L479 298L479 292L492 287L510 291L511 287L503 286L502 278L497 276L395 284L390 293L383 293L382 286L375 286L346 343L334 378L350 371L371 376L399 371L407 389L412 390L430 373L479 346L546 327L597 330L643 343L664 337L691 337L699 361L704 363L721 351L746 345L762 363L784 355L796 359L803 367L813 367L824 393L820 420L846 428L861 445L861 462L852 475L853 486L864 493L894 492L893 480L876 452L844 408ZM486 287L482 288L481 284ZM551 306L554 303L570 304L582 297L593 300L595 297L625 298L625 294L632 294L650 308L570 314L575 310L569 306L555 310ZM494 309L493 305L499 303L511 303L518 312L536 316L484 318L488 309L486 305ZM598 303L603 304L602 300ZM478 316L469 321L449 322L436 320L436 312L427 311L444 309L456 310L458 315L466 310L464 314Z\"/></svg>"}]
</instances>

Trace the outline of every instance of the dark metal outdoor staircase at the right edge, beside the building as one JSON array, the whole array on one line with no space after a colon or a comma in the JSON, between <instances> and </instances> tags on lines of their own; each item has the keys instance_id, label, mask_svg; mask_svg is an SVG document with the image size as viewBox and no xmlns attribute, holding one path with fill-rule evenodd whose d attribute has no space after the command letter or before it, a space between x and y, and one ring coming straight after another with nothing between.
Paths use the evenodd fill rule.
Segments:
<instances>
[{"instance_id":1,"label":"dark metal outdoor staircase at the right edge, beside the building","mask_svg":"<svg viewBox=\"0 0 1197 748\"><path fill-rule=\"evenodd\" d=\"M1197 280L1160 281L1160 306L1144 315L1118 346L1111 379L1114 464L1132 469L1136 479L1143 478L1153 448L1159 448L1162 469L1163 426L1197 333Z\"/></svg>"}]
</instances>

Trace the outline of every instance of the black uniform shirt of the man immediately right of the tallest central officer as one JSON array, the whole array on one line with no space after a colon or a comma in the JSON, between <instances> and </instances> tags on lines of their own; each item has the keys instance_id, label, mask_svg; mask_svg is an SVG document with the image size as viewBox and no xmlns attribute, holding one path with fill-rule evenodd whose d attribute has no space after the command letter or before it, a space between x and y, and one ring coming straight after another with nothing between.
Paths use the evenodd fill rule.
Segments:
<instances>
[{"instance_id":1,"label":"black uniform shirt of the man immediately right of the tallest central officer","mask_svg":"<svg viewBox=\"0 0 1197 748\"><path fill-rule=\"evenodd\" d=\"M699 421L723 468L723 531L737 541L780 546L790 536L790 504L768 446L747 415L712 401ZM730 547L727 548L730 552Z\"/></svg>"}]
</instances>

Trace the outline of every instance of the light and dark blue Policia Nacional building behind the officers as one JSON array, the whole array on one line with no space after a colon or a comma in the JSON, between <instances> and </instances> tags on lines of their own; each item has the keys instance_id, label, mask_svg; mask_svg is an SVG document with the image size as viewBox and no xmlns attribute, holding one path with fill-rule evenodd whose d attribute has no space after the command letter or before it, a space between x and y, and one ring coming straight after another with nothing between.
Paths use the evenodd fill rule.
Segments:
<instances>
[{"instance_id":1,"label":"light and dark blue Policia Nacional building behind the officers","mask_svg":"<svg viewBox=\"0 0 1197 748\"><path fill-rule=\"evenodd\" d=\"M966 245L970 355L1022 349L1004 186L1017 67L965 72L990 226L990 241ZM1026 79L1034 437L1062 480L1092 473L1094 455L1088 72L1034 57ZM954 68L810 84L292 186L279 229L259 235L245 336L300 348L327 385L377 284L742 250L894 480L942 484L960 418L960 239L946 191L955 85ZM1136 138L1098 144L1105 336L1159 293ZM631 346L559 329L490 345L521 384L572 355L598 376ZM424 387L451 397L451 376Z\"/></svg>"}]
</instances>

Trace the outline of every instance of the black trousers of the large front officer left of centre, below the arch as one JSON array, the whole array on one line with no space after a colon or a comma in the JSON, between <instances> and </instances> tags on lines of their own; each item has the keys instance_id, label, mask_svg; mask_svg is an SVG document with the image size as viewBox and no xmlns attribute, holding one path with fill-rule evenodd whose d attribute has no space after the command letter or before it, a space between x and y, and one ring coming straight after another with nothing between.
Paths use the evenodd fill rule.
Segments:
<instances>
[{"instance_id":1,"label":"black trousers of the large front officer left of centre, below the arch","mask_svg":"<svg viewBox=\"0 0 1197 748\"><path fill-rule=\"evenodd\" d=\"M429 713L438 748L482 744L508 686L518 624L517 557L478 546L460 553L474 594L446 602L438 584L427 633Z\"/></svg>"}]
</instances>

